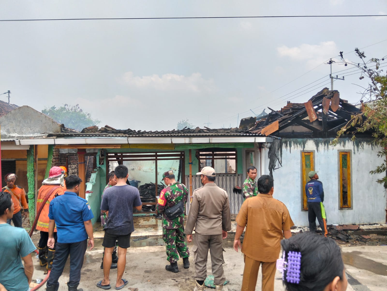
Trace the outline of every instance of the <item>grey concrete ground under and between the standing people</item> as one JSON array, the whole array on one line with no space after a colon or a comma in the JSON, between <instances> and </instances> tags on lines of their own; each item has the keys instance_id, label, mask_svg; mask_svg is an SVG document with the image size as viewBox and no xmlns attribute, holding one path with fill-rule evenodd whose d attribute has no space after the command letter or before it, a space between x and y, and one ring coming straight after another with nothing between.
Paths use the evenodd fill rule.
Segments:
<instances>
[{"instance_id":1,"label":"grey concrete ground under and between the standing people","mask_svg":"<svg viewBox=\"0 0 387 291\"><path fill-rule=\"evenodd\" d=\"M235 222L233 222L235 223ZM135 219L136 232L133 233L130 242L131 247L127 252L127 264L123 278L129 284L122 290L138 288L141 290L165 290L180 291L194 289L194 266L191 261L189 269L183 269L183 262L179 260L179 273L171 273L164 269L168 264L165 254L164 241L159 234L161 221L152 216L139 217ZM79 288L84 291L101 290L96 283L103 278L100 269L102 260L102 238L103 231L100 226L94 226L95 246L94 249L86 251L84 265L82 268L81 282ZM139 237L147 237L144 240L133 241ZM33 241L37 244L39 233L33 235ZM229 283L226 285L229 291L240 290L243 274L243 256L232 248L233 233L224 240L224 272ZM192 246L192 245L188 245ZM342 246L344 263L348 274L348 289L361 291L382 291L387 286L387 246ZM34 279L44 279L44 269L39 266L38 258L34 258ZM111 270L111 290L114 290L116 269ZM211 274L211 259L207 263L207 275ZM66 282L69 276L69 261L60 277L60 291L67 290ZM257 283L256 290L261 289L261 280ZM45 290L42 287L39 290ZM132 289L134 290L134 289ZM207 288L206 290L211 290ZM213 290L213 289L212 289ZM277 271L275 290L284 290L281 273Z\"/></svg>"}]
</instances>

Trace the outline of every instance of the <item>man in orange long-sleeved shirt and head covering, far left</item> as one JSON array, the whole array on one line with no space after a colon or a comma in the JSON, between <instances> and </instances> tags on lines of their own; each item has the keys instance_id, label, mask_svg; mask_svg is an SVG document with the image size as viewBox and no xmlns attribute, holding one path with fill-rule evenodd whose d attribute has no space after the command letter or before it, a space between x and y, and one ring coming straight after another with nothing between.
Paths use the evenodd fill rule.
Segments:
<instances>
[{"instance_id":1,"label":"man in orange long-sleeved shirt and head covering, far left","mask_svg":"<svg viewBox=\"0 0 387 291\"><path fill-rule=\"evenodd\" d=\"M22 216L28 217L28 205L26 201L26 191L23 187L15 185L17 176L16 174L8 174L4 177L7 186L2 188L2 191L9 192L14 201L14 215L7 219L7 223L11 224L11 221L14 223L15 227L22 228ZM24 213L22 214L22 212Z\"/></svg>"}]
</instances>

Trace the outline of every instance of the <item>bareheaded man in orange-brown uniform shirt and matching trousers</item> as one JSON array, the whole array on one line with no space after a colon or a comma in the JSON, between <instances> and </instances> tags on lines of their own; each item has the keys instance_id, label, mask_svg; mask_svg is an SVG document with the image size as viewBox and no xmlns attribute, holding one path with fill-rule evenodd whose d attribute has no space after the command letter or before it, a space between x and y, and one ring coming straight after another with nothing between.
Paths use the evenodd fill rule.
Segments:
<instances>
[{"instance_id":1,"label":"bareheaded man in orange-brown uniform shirt and matching trousers","mask_svg":"<svg viewBox=\"0 0 387 291\"><path fill-rule=\"evenodd\" d=\"M273 178L262 175L257 186L260 194L243 202L236 217L234 250L238 252L240 236L246 226L241 249L245 260L241 290L255 290L259 267L262 265L262 291L274 291L281 239L291 237L290 228L294 224L286 206L273 198Z\"/></svg>"}]
</instances>

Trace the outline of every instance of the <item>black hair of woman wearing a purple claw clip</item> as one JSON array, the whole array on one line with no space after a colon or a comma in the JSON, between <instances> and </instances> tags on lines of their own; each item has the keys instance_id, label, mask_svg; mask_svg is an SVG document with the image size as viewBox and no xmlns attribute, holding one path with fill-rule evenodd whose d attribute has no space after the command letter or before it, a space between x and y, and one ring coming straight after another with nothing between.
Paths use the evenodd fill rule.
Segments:
<instances>
[{"instance_id":1,"label":"black hair of woman wearing a purple claw clip","mask_svg":"<svg viewBox=\"0 0 387 291\"><path fill-rule=\"evenodd\" d=\"M301 253L300 282L293 284L284 280L287 291L322 291L336 276L343 279L341 250L331 238L307 231L282 240L281 245L286 261L289 251Z\"/></svg>"}]
</instances>

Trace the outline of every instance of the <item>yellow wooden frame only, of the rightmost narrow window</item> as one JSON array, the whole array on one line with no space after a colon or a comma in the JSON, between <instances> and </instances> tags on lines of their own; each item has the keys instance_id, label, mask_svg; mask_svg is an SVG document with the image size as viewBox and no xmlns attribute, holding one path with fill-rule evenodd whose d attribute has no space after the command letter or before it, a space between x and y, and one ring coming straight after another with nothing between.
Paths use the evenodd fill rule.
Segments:
<instances>
[{"instance_id":1,"label":"yellow wooden frame only, of the rightmost narrow window","mask_svg":"<svg viewBox=\"0 0 387 291\"><path fill-rule=\"evenodd\" d=\"M342 155L347 154L347 176L348 176L348 206L342 204ZM338 183L338 196L339 196L339 210L350 210L353 209L352 201L352 150L338 150L337 151L337 183Z\"/></svg>"}]
</instances>

